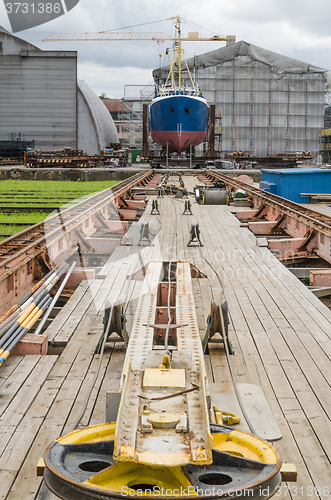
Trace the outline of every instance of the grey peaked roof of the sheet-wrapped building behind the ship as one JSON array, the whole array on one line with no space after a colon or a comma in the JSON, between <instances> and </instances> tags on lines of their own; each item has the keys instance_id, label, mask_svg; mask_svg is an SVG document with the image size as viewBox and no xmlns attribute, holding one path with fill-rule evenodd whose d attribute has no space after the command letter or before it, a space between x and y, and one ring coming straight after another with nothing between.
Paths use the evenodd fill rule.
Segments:
<instances>
[{"instance_id":1,"label":"grey peaked roof of the sheet-wrapped building behind the ship","mask_svg":"<svg viewBox=\"0 0 331 500\"><path fill-rule=\"evenodd\" d=\"M284 75L286 73L326 73L328 71L318 66L283 56L277 52L272 52L271 50L263 49L262 47L244 41L233 43L211 52L206 52L200 56L192 57L187 60L187 63L190 70L193 70L194 66L196 69L201 69L232 61L238 56L248 56L255 61L271 66L275 70L275 73L279 75ZM153 77L155 79L164 78L164 72L168 71L169 66L155 69L153 71Z\"/></svg>"}]
</instances>

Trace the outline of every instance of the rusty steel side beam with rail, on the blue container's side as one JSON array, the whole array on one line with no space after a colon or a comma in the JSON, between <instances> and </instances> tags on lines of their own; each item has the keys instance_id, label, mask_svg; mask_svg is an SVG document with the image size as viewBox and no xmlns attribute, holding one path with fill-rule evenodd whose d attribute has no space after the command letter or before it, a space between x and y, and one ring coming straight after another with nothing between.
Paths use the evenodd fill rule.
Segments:
<instances>
[{"instance_id":1,"label":"rusty steel side beam with rail, on the blue container's side","mask_svg":"<svg viewBox=\"0 0 331 500\"><path fill-rule=\"evenodd\" d=\"M235 180L227 175L215 172L213 170L206 170L204 175L200 177L202 182L222 180L230 188L243 189L246 196L253 203L252 219L249 227L253 224L259 224L263 217L264 222L274 222L275 225L269 224L271 227L266 233L273 232L272 229L283 229L286 234L293 238L307 238L310 235L309 242L307 242L305 251L295 252L289 249L286 255L282 255L280 260L290 262L291 258L302 258L303 254L317 255L327 262L331 263L331 218L320 214L309 208L302 207L298 203L286 200L275 194L267 193L261 189L246 184L245 182ZM249 211L243 210L243 218L241 219L241 212L237 212L240 220L249 222ZM260 218L260 219L259 219ZM258 219L258 220L256 220ZM256 221L256 222L254 222ZM262 224L262 221L261 221ZM254 231L255 232L255 231ZM261 231L259 231L261 234Z\"/></svg>"}]
</instances>

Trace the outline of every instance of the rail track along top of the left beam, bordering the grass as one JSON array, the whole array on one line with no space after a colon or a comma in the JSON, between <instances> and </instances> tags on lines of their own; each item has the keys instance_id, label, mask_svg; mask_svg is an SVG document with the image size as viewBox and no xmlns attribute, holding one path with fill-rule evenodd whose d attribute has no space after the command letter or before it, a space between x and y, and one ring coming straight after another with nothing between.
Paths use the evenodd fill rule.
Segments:
<instances>
[{"instance_id":1,"label":"rail track along top of the left beam, bordering the grass","mask_svg":"<svg viewBox=\"0 0 331 500\"><path fill-rule=\"evenodd\" d=\"M117 200L118 198L123 196L127 191L129 191L131 187L143 181L144 179L148 178L150 175L154 175L154 172L152 170L136 174L133 177L126 179L125 181L117 184L114 187L108 188L104 191L97 193L94 196L91 196L86 200L80 201L73 207L66 208L65 210L60 212L61 215L65 216L66 218L66 230L71 231L75 229L77 226L80 226L82 222L86 220L89 216L92 216L96 212L99 212L104 206L109 204L111 201L115 202L115 200ZM59 214L55 214L51 218L47 219L47 226L49 229L47 233L47 238L49 242L51 240L55 241L57 238L62 237L63 229L62 226L59 227L58 215ZM70 222L67 222L69 220ZM33 251L33 249L35 249L36 246L39 245L39 248L35 252L33 252L33 254L30 255L31 258L35 257L36 254L41 253L45 249L44 243L46 237L44 234L44 223L45 221L39 222L34 226L30 227L29 229L25 229L17 233L16 235L13 235L4 240L3 242L1 242L0 258L1 258L1 253L4 253L3 249L5 249L6 247L8 248L11 246L12 247L19 246L21 248L0 262L0 272L1 269L8 268L8 264L11 261L23 256L23 254L27 254L29 251ZM54 229L52 229L52 225L54 226ZM23 236L25 237L24 239L29 241L31 241L32 238L34 239L33 241L31 241L31 243L28 243L27 245L22 245L19 239ZM5 278L5 276L8 273L11 274L11 271L12 270L8 269L8 271L5 272L4 275L0 277L0 280Z\"/></svg>"}]
</instances>

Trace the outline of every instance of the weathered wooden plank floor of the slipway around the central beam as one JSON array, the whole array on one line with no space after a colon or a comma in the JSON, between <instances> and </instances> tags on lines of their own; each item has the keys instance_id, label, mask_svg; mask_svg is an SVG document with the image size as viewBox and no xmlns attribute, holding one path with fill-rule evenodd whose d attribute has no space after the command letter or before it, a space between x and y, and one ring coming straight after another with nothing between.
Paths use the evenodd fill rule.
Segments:
<instances>
[{"instance_id":1,"label":"weathered wooden plank floor of the slipway around the central beam","mask_svg":"<svg viewBox=\"0 0 331 500\"><path fill-rule=\"evenodd\" d=\"M184 180L190 191L198 182ZM65 346L60 355L10 356L0 368L0 499L55 500L36 477L36 464L83 407L98 364L105 300L124 301L130 331L142 286L130 278L151 259L170 257L188 259L207 275L193 278L201 336L221 292L203 257L223 277L236 380L263 389L283 435L274 444L298 469L298 482L283 484L278 498L331 498L331 311L257 246L229 207L191 200L193 215L182 215L184 200L159 198L160 216L150 215L149 201L140 222L157 233L153 246L137 247L140 223L133 224L99 279L81 283L47 330L54 346ZM202 253L187 246L196 223ZM118 389L124 356L122 343L107 344L82 426L104 422L106 391ZM211 383L231 383L221 345L211 345L206 365Z\"/></svg>"}]
</instances>

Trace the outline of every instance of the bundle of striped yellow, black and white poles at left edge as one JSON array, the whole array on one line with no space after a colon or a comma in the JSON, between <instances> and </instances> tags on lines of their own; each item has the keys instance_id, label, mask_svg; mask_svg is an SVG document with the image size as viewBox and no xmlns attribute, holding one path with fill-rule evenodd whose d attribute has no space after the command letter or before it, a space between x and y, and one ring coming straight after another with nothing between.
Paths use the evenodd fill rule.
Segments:
<instances>
[{"instance_id":1,"label":"bundle of striped yellow, black and white poles at left edge","mask_svg":"<svg viewBox=\"0 0 331 500\"><path fill-rule=\"evenodd\" d=\"M68 271L69 265L63 262L57 269L50 271L0 318L0 366L8 358L10 351L32 328L50 304L55 305L56 301L54 302L54 299L56 297L57 300L59 292L61 293L64 288L75 264ZM65 273L67 273L67 276L61 284L59 292L52 300L49 291ZM36 330L35 333L39 333L39 331Z\"/></svg>"}]
</instances>

